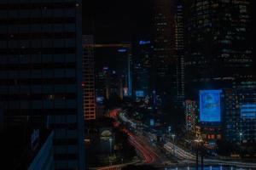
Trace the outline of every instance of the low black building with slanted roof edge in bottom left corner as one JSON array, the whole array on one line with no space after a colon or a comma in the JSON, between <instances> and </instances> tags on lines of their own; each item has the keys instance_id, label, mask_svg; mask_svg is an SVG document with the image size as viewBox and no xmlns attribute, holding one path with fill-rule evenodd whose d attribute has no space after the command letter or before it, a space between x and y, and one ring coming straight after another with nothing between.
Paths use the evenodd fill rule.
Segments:
<instances>
[{"instance_id":1,"label":"low black building with slanted roof edge in bottom left corner","mask_svg":"<svg viewBox=\"0 0 256 170\"><path fill-rule=\"evenodd\" d=\"M36 124L34 124L36 123ZM44 124L44 123L43 123ZM1 168L54 170L54 132L35 120L20 118L0 133Z\"/></svg>"}]
</instances>

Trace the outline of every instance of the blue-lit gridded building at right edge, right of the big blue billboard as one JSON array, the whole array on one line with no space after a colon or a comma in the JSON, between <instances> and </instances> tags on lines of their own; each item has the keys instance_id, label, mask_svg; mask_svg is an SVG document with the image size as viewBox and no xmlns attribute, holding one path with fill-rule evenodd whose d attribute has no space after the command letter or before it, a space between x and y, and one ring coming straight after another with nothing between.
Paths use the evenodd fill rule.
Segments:
<instances>
[{"instance_id":1,"label":"blue-lit gridded building at right edge, right of the big blue billboard","mask_svg":"<svg viewBox=\"0 0 256 170\"><path fill-rule=\"evenodd\" d=\"M224 89L224 138L231 142L256 142L255 88Z\"/></svg>"}]
</instances>

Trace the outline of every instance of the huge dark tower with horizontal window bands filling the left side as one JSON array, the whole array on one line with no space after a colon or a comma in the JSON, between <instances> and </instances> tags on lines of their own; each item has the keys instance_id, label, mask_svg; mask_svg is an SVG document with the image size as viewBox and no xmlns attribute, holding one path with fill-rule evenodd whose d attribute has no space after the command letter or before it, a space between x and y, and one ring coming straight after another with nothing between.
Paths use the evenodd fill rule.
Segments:
<instances>
[{"instance_id":1,"label":"huge dark tower with horizontal window bands filling the left side","mask_svg":"<svg viewBox=\"0 0 256 170\"><path fill-rule=\"evenodd\" d=\"M41 117L54 130L55 169L84 170L81 0L0 1L4 127Z\"/></svg>"}]
</instances>

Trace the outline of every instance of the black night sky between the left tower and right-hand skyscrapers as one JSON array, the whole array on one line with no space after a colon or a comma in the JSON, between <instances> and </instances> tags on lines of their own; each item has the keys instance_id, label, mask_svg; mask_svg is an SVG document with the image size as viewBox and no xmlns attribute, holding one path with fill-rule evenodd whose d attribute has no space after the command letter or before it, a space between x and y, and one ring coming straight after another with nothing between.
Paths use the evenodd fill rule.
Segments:
<instances>
[{"instance_id":1,"label":"black night sky between the left tower and right-hand skyscrapers","mask_svg":"<svg viewBox=\"0 0 256 170\"><path fill-rule=\"evenodd\" d=\"M83 33L97 43L127 42L148 35L151 0L86 0L83 2Z\"/></svg>"}]
</instances>

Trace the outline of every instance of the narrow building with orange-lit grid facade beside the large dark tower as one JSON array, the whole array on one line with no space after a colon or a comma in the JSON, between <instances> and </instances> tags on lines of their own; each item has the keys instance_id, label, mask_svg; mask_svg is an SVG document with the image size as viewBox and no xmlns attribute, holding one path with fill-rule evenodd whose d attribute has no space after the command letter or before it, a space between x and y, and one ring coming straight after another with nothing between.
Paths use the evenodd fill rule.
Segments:
<instances>
[{"instance_id":1,"label":"narrow building with orange-lit grid facade beside the large dark tower","mask_svg":"<svg viewBox=\"0 0 256 170\"><path fill-rule=\"evenodd\" d=\"M83 36L84 120L96 119L95 62L93 36Z\"/></svg>"}]
</instances>

